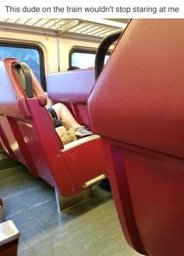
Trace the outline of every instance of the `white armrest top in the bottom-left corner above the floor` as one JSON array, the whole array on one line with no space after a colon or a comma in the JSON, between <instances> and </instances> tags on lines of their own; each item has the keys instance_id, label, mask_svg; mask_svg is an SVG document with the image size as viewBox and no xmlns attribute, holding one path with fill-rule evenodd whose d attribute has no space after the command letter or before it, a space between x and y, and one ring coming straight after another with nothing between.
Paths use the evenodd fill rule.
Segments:
<instances>
[{"instance_id":1,"label":"white armrest top in the bottom-left corner above the floor","mask_svg":"<svg viewBox=\"0 0 184 256\"><path fill-rule=\"evenodd\" d=\"M0 247L19 238L19 230L12 221L0 223Z\"/></svg>"}]
</instances>

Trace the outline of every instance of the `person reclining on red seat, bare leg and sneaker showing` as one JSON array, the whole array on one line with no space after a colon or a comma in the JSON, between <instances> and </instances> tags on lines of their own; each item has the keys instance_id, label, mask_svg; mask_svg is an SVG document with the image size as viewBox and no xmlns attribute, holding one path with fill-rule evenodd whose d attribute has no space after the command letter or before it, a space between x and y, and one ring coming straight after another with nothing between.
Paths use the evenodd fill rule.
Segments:
<instances>
[{"instance_id":1,"label":"person reclining on red seat, bare leg and sneaker showing","mask_svg":"<svg viewBox=\"0 0 184 256\"><path fill-rule=\"evenodd\" d=\"M52 105L51 99L48 98L47 92L45 92L45 95L48 99L46 108L55 122L55 127L64 125L63 123L69 124L70 128L72 128L75 132L76 137L80 138L93 134L76 121L67 106L62 103L55 103Z\"/></svg>"}]
</instances>

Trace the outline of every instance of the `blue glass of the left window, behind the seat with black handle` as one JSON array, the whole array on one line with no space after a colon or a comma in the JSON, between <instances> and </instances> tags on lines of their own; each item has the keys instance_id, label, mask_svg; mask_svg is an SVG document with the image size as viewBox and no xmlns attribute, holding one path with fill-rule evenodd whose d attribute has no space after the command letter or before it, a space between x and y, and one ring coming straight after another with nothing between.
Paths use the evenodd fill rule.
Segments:
<instances>
[{"instance_id":1,"label":"blue glass of the left window, behind the seat with black handle","mask_svg":"<svg viewBox=\"0 0 184 256\"><path fill-rule=\"evenodd\" d=\"M0 45L0 59L14 57L27 63L34 71L37 80L41 82L41 56L37 49Z\"/></svg>"}]
</instances>

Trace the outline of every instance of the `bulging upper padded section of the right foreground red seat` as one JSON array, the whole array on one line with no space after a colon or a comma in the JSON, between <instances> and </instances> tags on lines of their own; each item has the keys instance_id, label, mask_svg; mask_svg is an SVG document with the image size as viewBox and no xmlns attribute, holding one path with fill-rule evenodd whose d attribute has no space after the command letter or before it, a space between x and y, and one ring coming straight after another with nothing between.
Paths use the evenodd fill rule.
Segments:
<instances>
[{"instance_id":1,"label":"bulging upper padded section of the right foreground red seat","mask_svg":"<svg viewBox=\"0 0 184 256\"><path fill-rule=\"evenodd\" d=\"M184 157L184 20L131 20L90 95L94 133Z\"/></svg>"}]
</instances>

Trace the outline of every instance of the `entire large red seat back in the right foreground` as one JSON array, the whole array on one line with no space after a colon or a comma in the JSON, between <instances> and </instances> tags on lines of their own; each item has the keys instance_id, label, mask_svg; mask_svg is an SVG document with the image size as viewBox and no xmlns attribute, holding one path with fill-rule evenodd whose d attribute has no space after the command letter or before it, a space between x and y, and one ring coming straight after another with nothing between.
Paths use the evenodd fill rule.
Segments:
<instances>
[{"instance_id":1,"label":"entire large red seat back in the right foreground","mask_svg":"<svg viewBox=\"0 0 184 256\"><path fill-rule=\"evenodd\" d=\"M88 101L123 232L151 256L184 254L183 29L132 20Z\"/></svg>"}]
</instances>

